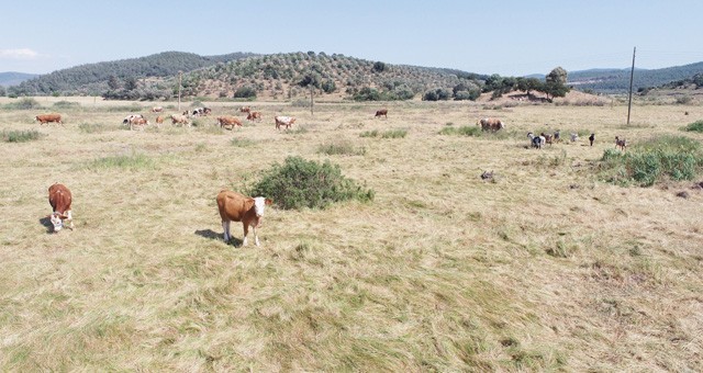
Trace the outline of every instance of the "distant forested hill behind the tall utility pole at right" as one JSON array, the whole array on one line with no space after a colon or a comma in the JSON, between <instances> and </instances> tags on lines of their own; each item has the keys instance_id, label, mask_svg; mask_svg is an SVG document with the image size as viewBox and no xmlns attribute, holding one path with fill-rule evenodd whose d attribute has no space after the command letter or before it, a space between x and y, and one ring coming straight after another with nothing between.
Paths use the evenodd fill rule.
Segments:
<instances>
[{"instance_id":1,"label":"distant forested hill behind the tall utility pole at right","mask_svg":"<svg viewBox=\"0 0 703 373\"><path fill-rule=\"evenodd\" d=\"M635 69L633 89L658 87L672 81L690 78L703 72L703 63L674 66L662 69ZM631 69L590 69L569 72L569 86L579 90L601 93L623 93L629 90Z\"/></svg>"}]
</instances>

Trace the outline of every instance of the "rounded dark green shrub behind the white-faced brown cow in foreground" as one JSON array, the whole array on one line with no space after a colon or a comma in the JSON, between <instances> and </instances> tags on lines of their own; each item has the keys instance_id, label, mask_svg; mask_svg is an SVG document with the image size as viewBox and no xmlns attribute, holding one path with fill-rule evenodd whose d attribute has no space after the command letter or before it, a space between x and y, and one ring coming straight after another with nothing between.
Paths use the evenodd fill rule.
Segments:
<instances>
[{"instance_id":1,"label":"rounded dark green shrub behind the white-faced brown cow in foreground","mask_svg":"<svg viewBox=\"0 0 703 373\"><path fill-rule=\"evenodd\" d=\"M283 165L274 163L249 191L249 195L265 195L284 210L303 207L325 208L331 203L359 200L372 201L373 191L342 176L339 166L301 157L288 157Z\"/></svg>"}]
</instances>

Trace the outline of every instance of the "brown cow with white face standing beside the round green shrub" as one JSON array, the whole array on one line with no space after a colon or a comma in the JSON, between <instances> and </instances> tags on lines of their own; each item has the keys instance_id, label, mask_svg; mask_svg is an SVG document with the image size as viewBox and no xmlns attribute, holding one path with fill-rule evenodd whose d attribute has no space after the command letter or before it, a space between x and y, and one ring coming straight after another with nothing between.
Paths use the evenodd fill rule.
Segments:
<instances>
[{"instance_id":1,"label":"brown cow with white face standing beside the round green shrub","mask_svg":"<svg viewBox=\"0 0 703 373\"><path fill-rule=\"evenodd\" d=\"M263 196L245 196L224 189L220 191L216 200L220 217L222 217L224 241L228 242L230 238L232 238L230 222L242 222L244 225L244 240L242 241L242 246L246 246L249 226L252 226L252 230L254 230L254 241L256 246L259 246L259 237L256 234L256 228L261 224L264 208L270 205L272 201Z\"/></svg>"}]
</instances>

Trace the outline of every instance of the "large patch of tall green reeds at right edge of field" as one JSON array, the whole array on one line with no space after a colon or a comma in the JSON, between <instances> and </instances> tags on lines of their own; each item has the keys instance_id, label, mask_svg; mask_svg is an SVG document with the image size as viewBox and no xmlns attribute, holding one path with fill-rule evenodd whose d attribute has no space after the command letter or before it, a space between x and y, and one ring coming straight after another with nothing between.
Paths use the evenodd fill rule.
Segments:
<instances>
[{"instance_id":1,"label":"large patch of tall green reeds at right edge of field","mask_svg":"<svg viewBox=\"0 0 703 373\"><path fill-rule=\"evenodd\" d=\"M628 147L626 152L605 150L600 169L604 180L622 185L693 180L703 170L703 149L688 137L658 136Z\"/></svg>"}]
</instances>

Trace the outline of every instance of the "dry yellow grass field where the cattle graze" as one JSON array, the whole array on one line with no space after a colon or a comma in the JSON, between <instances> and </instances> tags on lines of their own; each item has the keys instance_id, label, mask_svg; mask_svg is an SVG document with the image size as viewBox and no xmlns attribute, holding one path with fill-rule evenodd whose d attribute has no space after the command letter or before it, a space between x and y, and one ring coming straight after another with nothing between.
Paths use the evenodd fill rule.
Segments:
<instances>
[{"instance_id":1,"label":"dry yellow grass field where the cattle graze","mask_svg":"<svg viewBox=\"0 0 703 373\"><path fill-rule=\"evenodd\" d=\"M617 104L402 102L384 120L261 102L230 132L214 116L239 104L208 103L197 127L131 132L148 103L37 101L0 110L0 131L40 133L0 144L0 371L703 371L703 179L596 172L615 136L703 140L680 131L700 106L636 105L626 126ZM53 111L65 126L32 121ZM445 129L488 115L505 131ZM373 202L274 205L261 247L234 223L223 242L217 192L288 156L330 159ZM56 181L76 229L55 235Z\"/></svg>"}]
</instances>

